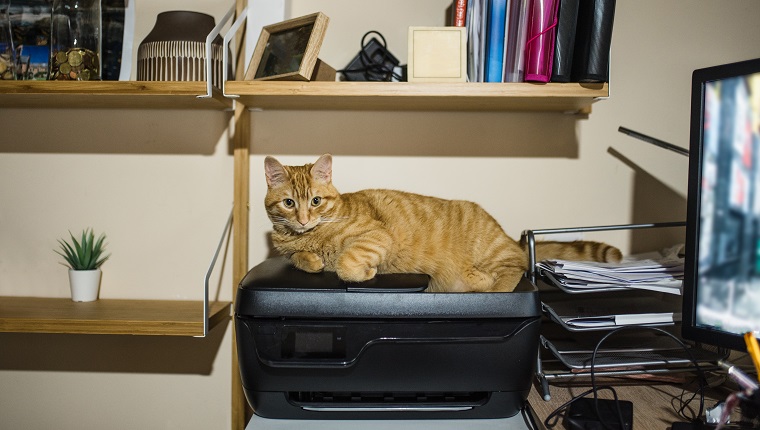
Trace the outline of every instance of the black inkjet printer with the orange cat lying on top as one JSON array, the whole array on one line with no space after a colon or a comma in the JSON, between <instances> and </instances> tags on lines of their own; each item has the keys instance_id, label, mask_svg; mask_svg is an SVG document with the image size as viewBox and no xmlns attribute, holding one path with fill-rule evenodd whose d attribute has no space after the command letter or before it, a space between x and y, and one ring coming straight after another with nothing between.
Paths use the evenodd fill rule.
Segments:
<instances>
[{"instance_id":1,"label":"black inkjet printer with the orange cat lying on top","mask_svg":"<svg viewBox=\"0 0 760 430\"><path fill-rule=\"evenodd\" d=\"M522 410L539 339L538 291L426 293L428 277L345 283L283 257L237 291L243 390L283 419L504 418Z\"/></svg>"}]
</instances>

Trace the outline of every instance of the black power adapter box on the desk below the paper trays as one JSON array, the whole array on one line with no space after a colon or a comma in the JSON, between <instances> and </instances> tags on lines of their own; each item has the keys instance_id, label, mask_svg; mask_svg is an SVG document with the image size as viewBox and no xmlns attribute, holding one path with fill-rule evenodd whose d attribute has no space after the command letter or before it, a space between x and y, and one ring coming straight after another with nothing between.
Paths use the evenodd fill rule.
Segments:
<instances>
[{"instance_id":1,"label":"black power adapter box on the desk below the paper trays","mask_svg":"<svg viewBox=\"0 0 760 430\"><path fill-rule=\"evenodd\" d=\"M615 400L598 399L599 415L596 414L594 399L582 397L575 400L565 414L565 428L568 430L631 430L633 428L633 403L618 400L618 414ZM620 428L622 418L624 428Z\"/></svg>"}]
</instances>

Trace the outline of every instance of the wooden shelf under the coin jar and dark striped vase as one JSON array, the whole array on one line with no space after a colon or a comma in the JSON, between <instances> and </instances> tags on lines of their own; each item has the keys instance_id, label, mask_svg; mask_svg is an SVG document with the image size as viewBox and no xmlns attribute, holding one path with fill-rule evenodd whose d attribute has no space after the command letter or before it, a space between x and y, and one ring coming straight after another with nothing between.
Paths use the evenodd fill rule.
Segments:
<instances>
[{"instance_id":1,"label":"wooden shelf under the coin jar and dark striped vase","mask_svg":"<svg viewBox=\"0 0 760 430\"><path fill-rule=\"evenodd\" d=\"M232 101L206 82L0 81L0 108L206 109L232 108Z\"/></svg>"}]
</instances>

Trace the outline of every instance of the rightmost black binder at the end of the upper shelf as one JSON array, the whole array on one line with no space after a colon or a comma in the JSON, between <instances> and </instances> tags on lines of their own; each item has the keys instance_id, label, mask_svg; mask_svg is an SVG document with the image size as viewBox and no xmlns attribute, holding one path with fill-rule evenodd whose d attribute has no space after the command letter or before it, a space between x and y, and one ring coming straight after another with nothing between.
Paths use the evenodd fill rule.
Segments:
<instances>
[{"instance_id":1,"label":"rightmost black binder at the end of the upper shelf","mask_svg":"<svg viewBox=\"0 0 760 430\"><path fill-rule=\"evenodd\" d=\"M573 82L609 82L615 0L579 0Z\"/></svg>"}]
</instances>

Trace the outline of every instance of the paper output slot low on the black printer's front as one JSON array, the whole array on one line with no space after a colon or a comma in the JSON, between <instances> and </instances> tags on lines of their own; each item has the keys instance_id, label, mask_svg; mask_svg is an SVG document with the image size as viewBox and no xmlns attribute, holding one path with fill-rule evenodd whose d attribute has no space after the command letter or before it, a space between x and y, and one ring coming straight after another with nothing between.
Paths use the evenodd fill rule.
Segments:
<instances>
[{"instance_id":1,"label":"paper output slot low on the black printer's front","mask_svg":"<svg viewBox=\"0 0 760 430\"><path fill-rule=\"evenodd\" d=\"M488 392L327 392L288 393L288 401L307 411L467 411L488 402Z\"/></svg>"}]
</instances>

